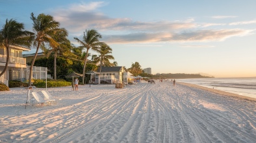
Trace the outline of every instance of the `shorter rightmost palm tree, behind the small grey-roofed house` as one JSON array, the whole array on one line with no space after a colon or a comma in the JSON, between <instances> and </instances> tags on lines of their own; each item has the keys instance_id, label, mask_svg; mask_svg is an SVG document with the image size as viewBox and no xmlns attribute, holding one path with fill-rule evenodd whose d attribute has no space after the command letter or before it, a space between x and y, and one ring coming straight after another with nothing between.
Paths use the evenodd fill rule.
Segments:
<instances>
[{"instance_id":1,"label":"shorter rightmost palm tree, behind the small grey-roofed house","mask_svg":"<svg viewBox=\"0 0 256 143\"><path fill-rule=\"evenodd\" d=\"M100 69L99 73L101 73L101 67L102 65L110 65L109 60L114 60L114 57L110 54L112 54L112 49L109 47L109 45L103 43L101 44L100 49L96 49L96 52L99 53L99 56L97 56L94 60L100 62Z\"/></svg>"}]
</instances>

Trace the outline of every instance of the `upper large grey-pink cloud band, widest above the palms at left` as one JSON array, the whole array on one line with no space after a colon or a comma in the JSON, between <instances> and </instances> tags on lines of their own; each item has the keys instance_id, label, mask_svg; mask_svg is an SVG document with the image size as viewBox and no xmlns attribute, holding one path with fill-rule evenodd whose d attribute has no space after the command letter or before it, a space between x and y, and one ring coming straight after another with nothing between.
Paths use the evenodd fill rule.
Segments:
<instances>
[{"instance_id":1,"label":"upper large grey-pink cloud band, widest above the palms at left","mask_svg":"<svg viewBox=\"0 0 256 143\"><path fill-rule=\"evenodd\" d=\"M197 27L192 23L194 19L185 21L133 21L129 18L111 18L97 8L105 5L98 3L80 3L69 6L69 8L58 8L53 11L53 16L60 22L61 27L66 27L70 32L81 32L85 29L96 28L97 30L122 30L122 31L166 31Z\"/></svg>"}]
</instances>

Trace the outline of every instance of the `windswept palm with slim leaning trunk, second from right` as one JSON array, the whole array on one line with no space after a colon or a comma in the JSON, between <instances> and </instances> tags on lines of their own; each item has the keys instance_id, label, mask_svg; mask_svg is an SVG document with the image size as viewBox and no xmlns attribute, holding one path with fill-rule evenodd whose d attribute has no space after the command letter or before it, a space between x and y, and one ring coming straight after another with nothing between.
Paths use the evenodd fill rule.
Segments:
<instances>
[{"instance_id":1,"label":"windswept palm with slim leaning trunk, second from right","mask_svg":"<svg viewBox=\"0 0 256 143\"><path fill-rule=\"evenodd\" d=\"M88 57L89 49L96 50L99 47L99 38L101 38L101 34L99 34L96 30L88 30L86 34L84 34L83 39L80 40L78 38L74 38L82 47L86 49L86 55L84 56L84 67L83 67L83 84L84 84L84 72L86 67L86 61Z\"/></svg>"}]
</instances>

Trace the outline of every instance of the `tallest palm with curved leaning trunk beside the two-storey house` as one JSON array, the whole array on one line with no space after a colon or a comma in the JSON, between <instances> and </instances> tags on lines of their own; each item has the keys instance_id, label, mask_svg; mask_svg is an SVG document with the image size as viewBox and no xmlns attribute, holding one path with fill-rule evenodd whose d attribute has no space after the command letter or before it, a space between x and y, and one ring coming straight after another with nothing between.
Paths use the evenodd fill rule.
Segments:
<instances>
[{"instance_id":1,"label":"tallest palm with curved leaning trunk beside the two-storey house","mask_svg":"<svg viewBox=\"0 0 256 143\"><path fill-rule=\"evenodd\" d=\"M44 47L45 43L49 43L49 45L51 45L52 47L57 47L59 44L52 37L53 34L60 31L60 28L58 28L60 23L55 21L52 16L39 14L38 17L34 17L34 14L31 13L31 20L33 21L32 29L36 34L36 38L34 40L36 53L34 54L34 58L30 67L29 85L31 85L32 67L34 65L34 61L36 60L39 48Z\"/></svg>"}]
</instances>

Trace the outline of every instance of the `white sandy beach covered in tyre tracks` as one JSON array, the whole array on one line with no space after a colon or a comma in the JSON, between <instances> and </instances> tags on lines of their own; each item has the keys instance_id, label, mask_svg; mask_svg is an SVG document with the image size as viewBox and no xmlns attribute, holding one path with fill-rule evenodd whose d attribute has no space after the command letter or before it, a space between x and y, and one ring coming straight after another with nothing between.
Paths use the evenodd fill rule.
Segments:
<instances>
[{"instance_id":1,"label":"white sandy beach covered in tyre tracks","mask_svg":"<svg viewBox=\"0 0 256 143\"><path fill-rule=\"evenodd\" d=\"M62 100L27 109L24 88L0 92L0 142L256 142L253 100L171 82L48 91Z\"/></svg>"}]
</instances>

